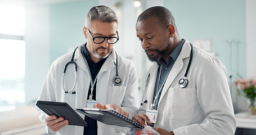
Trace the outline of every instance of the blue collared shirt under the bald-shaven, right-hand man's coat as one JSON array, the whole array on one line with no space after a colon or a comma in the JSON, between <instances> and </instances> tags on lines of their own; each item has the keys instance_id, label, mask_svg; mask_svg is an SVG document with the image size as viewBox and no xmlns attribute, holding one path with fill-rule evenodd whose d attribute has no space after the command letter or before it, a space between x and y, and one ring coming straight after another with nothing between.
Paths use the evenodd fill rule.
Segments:
<instances>
[{"instance_id":1,"label":"blue collared shirt under the bald-shaven, right-hand man's coat","mask_svg":"<svg viewBox=\"0 0 256 135\"><path fill-rule=\"evenodd\" d=\"M155 83L155 91L154 91L154 98L153 102L155 100L155 96L158 93L160 89L160 93L158 96L158 99L155 102L154 109L158 109L158 102L161 96L161 91L163 90L162 84L164 83L165 78L167 78L167 75L169 74L170 70L172 69L175 61L177 60L177 57L179 56L179 53L181 52L182 46L185 43L186 39L182 39L181 43L178 44L176 48L170 53L170 55L167 57L166 63L163 58L161 58L157 63L160 65L158 68L158 76L156 77L156 83ZM161 69L160 69L161 68ZM161 71L161 73L160 73Z\"/></svg>"}]
</instances>

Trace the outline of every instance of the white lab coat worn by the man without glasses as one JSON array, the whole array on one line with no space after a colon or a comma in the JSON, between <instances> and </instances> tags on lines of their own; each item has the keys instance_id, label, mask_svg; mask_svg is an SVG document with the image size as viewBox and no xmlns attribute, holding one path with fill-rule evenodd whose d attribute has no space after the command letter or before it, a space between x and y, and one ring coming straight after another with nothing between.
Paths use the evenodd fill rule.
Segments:
<instances>
[{"instance_id":1,"label":"white lab coat worn by the man without glasses","mask_svg":"<svg viewBox=\"0 0 256 135\"><path fill-rule=\"evenodd\" d=\"M173 131L175 135L234 134L236 119L226 69L221 61L194 47L187 74L188 85L179 87L178 81L184 78L190 50L186 40L163 87L155 127ZM148 102L140 107L140 113L145 113L154 100L158 68L155 63L149 70L150 79L143 97L143 101L146 99Z\"/></svg>"}]
</instances>

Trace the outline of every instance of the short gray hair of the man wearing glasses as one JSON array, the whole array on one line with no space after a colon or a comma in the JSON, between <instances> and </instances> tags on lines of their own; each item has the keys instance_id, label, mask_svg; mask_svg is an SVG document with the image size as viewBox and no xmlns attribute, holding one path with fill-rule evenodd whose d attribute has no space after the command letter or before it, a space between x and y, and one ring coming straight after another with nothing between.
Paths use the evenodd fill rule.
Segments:
<instances>
[{"instance_id":1,"label":"short gray hair of the man wearing glasses","mask_svg":"<svg viewBox=\"0 0 256 135\"><path fill-rule=\"evenodd\" d=\"M93 20L99 20L101 22L117 22L115 11L107 6L95 6L92 7L86 17L85 26L88 28Z\"/></svg>"}]
</instances>

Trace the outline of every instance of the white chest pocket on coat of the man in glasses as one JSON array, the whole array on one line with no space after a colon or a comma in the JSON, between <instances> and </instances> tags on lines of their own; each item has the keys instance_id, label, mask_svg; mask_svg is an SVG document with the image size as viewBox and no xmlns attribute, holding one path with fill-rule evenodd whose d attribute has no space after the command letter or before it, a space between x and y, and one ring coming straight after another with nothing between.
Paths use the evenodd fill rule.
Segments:
<instances>
[{"instance_id":1,"label":"white chest pocket on coat of the man in glasses","mask_svg":"<svg viewBox=\"0 0 256 135\"><path fill-rule=\"evenodd\" d=\"M107 88L107 104L121 106L125 95L125 89L126 87L124 86L109 86Z\"/></svg>"}]
</instances>

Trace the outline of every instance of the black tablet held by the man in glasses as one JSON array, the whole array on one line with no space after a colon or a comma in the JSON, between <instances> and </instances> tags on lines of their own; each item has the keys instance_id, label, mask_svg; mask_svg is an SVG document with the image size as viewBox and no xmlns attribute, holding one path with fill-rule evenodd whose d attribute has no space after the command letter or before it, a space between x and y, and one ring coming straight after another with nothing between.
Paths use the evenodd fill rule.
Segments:
<instances>
[{"instance_id":1,"label":"black tablet held by the man in glasses","mask_svg":"<svg viewBox=\"0 0 256 135\"><path fill-rule=\"evenodd\" d=\"M56 115L58 118L63 117L69 120L69 125L79 125L87 127L86 121L78 115L75 110L66 102L37 101L35 104L48 115Z\"/></svg>"}]
</instances>

